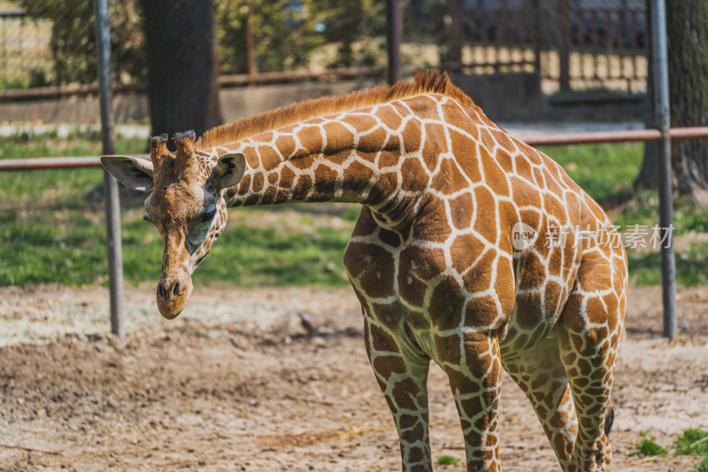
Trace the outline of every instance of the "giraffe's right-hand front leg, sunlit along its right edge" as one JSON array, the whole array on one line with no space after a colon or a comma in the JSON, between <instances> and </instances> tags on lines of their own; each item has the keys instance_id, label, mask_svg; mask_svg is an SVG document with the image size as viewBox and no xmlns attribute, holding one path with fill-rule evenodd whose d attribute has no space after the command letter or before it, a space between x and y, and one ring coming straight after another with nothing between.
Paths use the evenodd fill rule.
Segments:
<instances>
[{"instance_id":1,"label":"giraffe's right-hand front leg, sunlit along its right edge","mask_svg":"<svg viewBox=\"0 0 708 472\"><path fill-rule=\"evenodd\" d=\"M466 333L440 339L440 364L450 379L465 437L467 471L499 471L502 366L496 337Z\"/></svg>"}]
</instances>

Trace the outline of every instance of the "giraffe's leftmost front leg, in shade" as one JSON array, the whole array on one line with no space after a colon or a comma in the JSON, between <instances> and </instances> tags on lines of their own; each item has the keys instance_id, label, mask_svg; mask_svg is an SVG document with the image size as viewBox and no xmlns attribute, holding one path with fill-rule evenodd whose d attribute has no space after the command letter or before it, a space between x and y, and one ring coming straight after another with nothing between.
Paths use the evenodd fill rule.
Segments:
<instances>
[{"instance_id":1,"label":"giraffe's leftmost front leg, in shade","mask_svg":"<svg viewBox=\"0 0 708 472\"><path fill-rule=\"evenodd\" d=\"M404 472L432 472L428 438L430 359L396 343L388 329L365 317L366 353L398 431Z\"/></svg>"}]
</instances>

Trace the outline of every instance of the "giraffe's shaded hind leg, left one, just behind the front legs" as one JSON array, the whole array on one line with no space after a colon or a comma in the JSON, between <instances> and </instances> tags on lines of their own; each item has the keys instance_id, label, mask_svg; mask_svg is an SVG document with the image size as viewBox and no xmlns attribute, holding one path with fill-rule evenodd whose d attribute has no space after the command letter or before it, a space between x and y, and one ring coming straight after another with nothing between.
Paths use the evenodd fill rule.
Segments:
<instances>
[{"instance_id":1,"label":"giraffe's shaded hind leg, left one, just behind the front legs","mask_svg":"<svg viewBox=\"0 0 708 472\"><path fill-rule=\"evenodd\" d=\"M504 360L503 366L526 393L558 462L563 470L568 470L578 421L558 339L546 337L519 356Z\"/></svg>"}]
</instances>

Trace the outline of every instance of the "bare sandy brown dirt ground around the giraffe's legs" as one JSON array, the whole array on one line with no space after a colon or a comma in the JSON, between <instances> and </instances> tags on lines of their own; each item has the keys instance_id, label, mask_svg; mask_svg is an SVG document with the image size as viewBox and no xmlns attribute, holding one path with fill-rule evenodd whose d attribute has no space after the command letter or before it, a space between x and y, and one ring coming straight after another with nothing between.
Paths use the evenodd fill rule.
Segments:
<instances>
[{"instance_id":1,"label":"bare sandy brown dirt ground around the giraffe's legs","mask_svg":"<svg viewBox=\"0 0 708 472\"><path fill-rule=\"evenodd\" d=\"M351 290L196 287L175 321L159 318L153 290L127 290L119 340L104 289L0 289L0 470L399 469ZM658 288L629 300L614 469L687 470L695 458L630 453L643 430L671 449L683 429L708 428L708 288L681 290L674 343L659 336ZM298 310L323 323L318 336ZM434 458L463 458L439 368L429 388ZM504 469L558 470L524 394L509 377L503 391Z\"/></svg>"}]
</instances>

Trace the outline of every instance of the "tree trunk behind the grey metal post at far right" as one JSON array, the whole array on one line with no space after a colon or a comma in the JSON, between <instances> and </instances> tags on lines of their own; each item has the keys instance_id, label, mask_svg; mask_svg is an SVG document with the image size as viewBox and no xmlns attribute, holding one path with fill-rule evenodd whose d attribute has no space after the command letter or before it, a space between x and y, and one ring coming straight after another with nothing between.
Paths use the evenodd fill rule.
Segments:
<instances>
[{"instance_id":1,"label":"tree trunk behind the grey metal post at far right","mask_svg":"<svg viewBox=\"0 0 708 472\"><path fill-rule=\"evenodd\" d=\"M650 18L647 2L647 19ZM650 22L647 21L649 25ZM672 128L706 126L708 124L708 2L681 0L666 2L666 29L669 54L669 100ZM650 32L649 35L650 37ZM651 54L649 53L649 57ZM654 127L653 90L650 79L647 97L650 119ZM645 147L642 170L635 184L654 188L657 185L658 152L656 144ZM702 140L681 140L672 143L672 166L677 189L681 195L694 197L708 205L708 143Z\"/></svg>"}]
</instances>

